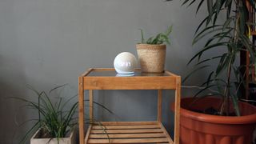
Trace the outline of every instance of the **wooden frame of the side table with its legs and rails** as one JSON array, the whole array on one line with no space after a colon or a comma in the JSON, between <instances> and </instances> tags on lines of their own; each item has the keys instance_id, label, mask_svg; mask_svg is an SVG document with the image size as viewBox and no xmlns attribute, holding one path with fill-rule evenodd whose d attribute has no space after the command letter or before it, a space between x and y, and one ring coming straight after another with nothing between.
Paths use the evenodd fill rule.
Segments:
<instances>
[{"instance_id":1,"label":"wooden frame of the side table with its legs and rails","mask_svg":"<svg viewBox=\"0 0 256 144\"><path fill-rule=\"evenodd\" d=\"M107 77L107 76L88 76L92 71L110 71L114 69L89 69L78 78L78 102L79 102L79 141L85 144L84 133L84 90L89 90L90 120L93 119L93 90L158 90L158 120L162 121L162 90L175 90L175 113L174 113L174 141L167 134L169 143L179 143L179 118L180 118L180 94L181 94L181 77L165 71L167 76L134 76L134 77ZM106 122L107 123L107 122ZM126 122L127 123L127 122ZM136 123L136 122L135 122ZM148 122L142 122L147 124ZM111 124L109 122L108 124ZM90 130L90 126L89 126ZM88 137L88 130L86 137ZM132 142L131 142L132 143Z\"/></svg>"}]
</instances>

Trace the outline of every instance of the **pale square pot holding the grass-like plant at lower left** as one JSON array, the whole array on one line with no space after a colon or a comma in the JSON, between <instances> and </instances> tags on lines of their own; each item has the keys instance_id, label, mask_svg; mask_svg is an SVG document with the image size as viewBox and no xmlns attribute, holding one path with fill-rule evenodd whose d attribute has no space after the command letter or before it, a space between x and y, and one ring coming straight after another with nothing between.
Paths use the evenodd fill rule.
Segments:
<instances>
[{"instance_id":1,"label":"pale square pot holding the grass-like plant at lower left","mask_svg":"<svg viewBox=\"0 0 256 144\"><path fill-rule=\"evenodd\" d=\"M40 130L30 139L30 144L58 144L57 138L39 138ZM68 138L59 138L59 144L76 144L75 130L71 131Z\"/></svg>"}]
</instances>

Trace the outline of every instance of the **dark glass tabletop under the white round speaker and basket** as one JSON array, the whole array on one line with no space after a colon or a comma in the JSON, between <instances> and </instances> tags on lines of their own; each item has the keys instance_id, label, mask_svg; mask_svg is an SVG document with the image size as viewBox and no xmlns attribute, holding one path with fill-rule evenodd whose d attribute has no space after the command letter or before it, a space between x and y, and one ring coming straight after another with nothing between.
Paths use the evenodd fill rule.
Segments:
<instances>
[{"instance_id":1,"label":"dark glass tabletop under the white round speaker and basket","mask_svg":"<svg viewBox=\"0 0 256 144\"><path fill-rule=\"evenodd\" d=\"M155 77L155 76L170 76L170 74L167 74L166 72L163 73L142 73L140 70L136 70L134 74L118 74L114 70L92 70L87 75L89 77Z\"/></svg>"}]
</instances>

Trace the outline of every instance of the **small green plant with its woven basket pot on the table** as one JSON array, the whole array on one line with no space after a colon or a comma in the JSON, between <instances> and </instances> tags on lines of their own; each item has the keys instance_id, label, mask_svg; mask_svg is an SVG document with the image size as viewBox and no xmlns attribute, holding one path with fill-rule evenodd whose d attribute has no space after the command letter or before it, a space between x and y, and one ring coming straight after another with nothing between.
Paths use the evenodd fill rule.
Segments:
<instances>
[{"instance_id":1,"label":"small green plant with its woven basket pot on the table","mask_svg":"<svg viewBox=\"0 0 256 144\"><path fill-rule=\"evenodd\" d=\"M165 33L157 34L155 37L144 39L136 45L138 60L144 73L162 73L166 62L166 43L170 44L169 35L172 31L170 26Z\"/></svg>"}]
</instances>

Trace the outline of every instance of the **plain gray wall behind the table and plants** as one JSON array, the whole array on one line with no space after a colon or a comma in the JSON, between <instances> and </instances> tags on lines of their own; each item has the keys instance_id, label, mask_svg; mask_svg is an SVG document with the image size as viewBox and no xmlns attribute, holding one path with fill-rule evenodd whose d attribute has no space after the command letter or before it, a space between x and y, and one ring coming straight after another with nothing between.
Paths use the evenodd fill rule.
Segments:
<instances>
[{"instance_id":1,"label":"plain gray wall behind the table and plants","mask_svg":"<svg viewBox=\"0 0 256 144\"><path fill-rule=\"evenodd\" d=\"M196 16L195 10L178 0L0 0L0 143L18 143L30 127L16 126L15 114L18 122L34 116L21 107L22 102L9 97L33 99L26 84L50 90L64 83L70 84L71 92L66 94L70 97L69 93L77 92L78 75L86 69L113 67L114 57L122 51L137 55L139 28L148 36L174 25L166 69L185 76L186 62L197 51L191 46L194 30L203 18L203 11ZM198 75L202 78L204 73ZM193 81L197 83L197 76L189 84ZM118 118L128 121L154 120L154 94L154 90L117 90L95 95ZM173 98L168 96L173 93L164 94L163 121L171 131ZM182 95L191 95L190 90ZM100 109L95 114L98 119L114 119Z\"/></svg>"}]
</instances>

